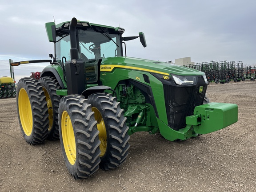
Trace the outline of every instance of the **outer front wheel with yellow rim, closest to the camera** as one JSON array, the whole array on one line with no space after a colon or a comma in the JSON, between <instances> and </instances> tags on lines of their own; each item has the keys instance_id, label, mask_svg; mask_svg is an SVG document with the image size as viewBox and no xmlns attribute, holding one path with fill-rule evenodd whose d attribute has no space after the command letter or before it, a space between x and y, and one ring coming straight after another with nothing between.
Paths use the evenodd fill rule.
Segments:
<instances>
[{"instance_id":1,"label":"outer front wheel with yellow rim, closest to the camera","mask_svg":"<svg viewBox=\"0 0 256 192\"><path fill-rule=\"evenodd\" d=\"M92 176L99 169L100 140L97 121L84 96L69 95L60 100L60 144L68 172L75 179Z\"/></svg>"}]
</instances>

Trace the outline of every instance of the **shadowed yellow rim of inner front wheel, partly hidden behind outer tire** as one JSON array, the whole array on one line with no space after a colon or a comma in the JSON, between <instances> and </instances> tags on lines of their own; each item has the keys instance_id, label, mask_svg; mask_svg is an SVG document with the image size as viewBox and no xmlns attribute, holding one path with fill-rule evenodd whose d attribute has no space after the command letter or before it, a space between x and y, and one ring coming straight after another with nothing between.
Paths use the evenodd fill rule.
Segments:
<instances>
[{"instance_id":1,"label":"shadowed yellow rim of inner front wheel, partly hidden behind outer tire","mask_svg":"<svg viewBox=\"0 0 256 192\"><path fill-rule=\"evenodd\" d=\"M95 120L97 123L97 129L99 130L99 139L100 139L100 157L104 156L107 149L107 132L106 126L104 124L104 120L99 112L99 110L95 107L92 107L92 111L94 112Z\"/></svg>"}]
</instances>

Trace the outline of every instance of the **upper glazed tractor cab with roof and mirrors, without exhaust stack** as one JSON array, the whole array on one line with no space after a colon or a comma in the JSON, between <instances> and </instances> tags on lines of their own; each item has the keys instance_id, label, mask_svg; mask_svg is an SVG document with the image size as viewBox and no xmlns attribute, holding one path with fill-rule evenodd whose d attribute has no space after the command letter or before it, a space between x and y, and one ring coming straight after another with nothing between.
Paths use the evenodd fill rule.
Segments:
<instances>
[{"instance_id":1,"label":"upper glazed tractor cab with roof and mirrors, without exhaust stack","mask_svg":"<svg viewBox=\"0 0 256 192\"><path fill-rule=\"evenodd\" d=\"M55 57L58 62L71 59L70 24L71 22L57 25L54 22L45 24L48 40L56 43ZM122 37L124 28L93 24L87 21L77 21L75 30L76 46L80 58L85 62L100 58L126 56L123 54L122 44L124 41L138 37L140 37L141 44L144 47L147 46L143 32L140 32L139 36Z\"/></svg>"}]
</instances>

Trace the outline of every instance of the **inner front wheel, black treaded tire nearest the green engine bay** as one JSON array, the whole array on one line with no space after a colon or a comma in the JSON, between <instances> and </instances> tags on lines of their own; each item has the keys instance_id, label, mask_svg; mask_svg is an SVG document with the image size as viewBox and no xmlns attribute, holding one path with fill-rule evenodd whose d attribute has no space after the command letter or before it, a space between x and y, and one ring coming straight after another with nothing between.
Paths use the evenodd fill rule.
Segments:
<instances>
[{"instance_id":1,"label":"inner front wheel, black treaded tire nearest the green engine bay","mask_svg":"<svg viewBox=\"0 0 256 192\"><path fill-rule=\"evenodd\" d=\"M130 147L124 109L120 108L120 102L112 94L94 93L88 96L88 101L92 104L100 131L100 168L114 169L124 163Z\"/></svg>"}]
</instances>

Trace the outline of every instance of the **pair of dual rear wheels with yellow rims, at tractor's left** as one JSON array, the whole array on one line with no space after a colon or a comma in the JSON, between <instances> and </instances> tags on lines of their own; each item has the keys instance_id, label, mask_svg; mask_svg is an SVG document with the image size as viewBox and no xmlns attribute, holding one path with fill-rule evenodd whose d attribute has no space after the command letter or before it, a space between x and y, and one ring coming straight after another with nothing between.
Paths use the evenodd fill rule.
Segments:
<instances>
[{"instance_id":1,"label":"pair of dual rear wheels with yellow rims, at tractor's left","mask_svg":"<svg viewBox=\"0 0 256 192\"><path fill-rule=\"evenodd\" d=\"M60 96L56 94L59 88L58 81L52 77L20 79L17 85L17 111L21 132L29 144L59 139Z\"/></svg>"}]
</instances>

